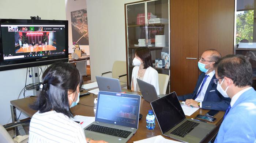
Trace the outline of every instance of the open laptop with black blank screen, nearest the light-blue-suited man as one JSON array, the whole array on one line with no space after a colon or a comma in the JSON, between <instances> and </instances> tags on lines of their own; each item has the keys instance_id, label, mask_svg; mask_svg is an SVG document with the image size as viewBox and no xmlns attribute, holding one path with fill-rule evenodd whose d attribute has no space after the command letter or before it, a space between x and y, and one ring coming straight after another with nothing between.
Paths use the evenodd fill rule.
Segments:
<instances>
[{"instance_id":1,"label":"open laptop with black blank screen, nearest the light-blue-suited man","mask_svg":"<svg viewBox=\"0 0 256 143\"><path fill-rule=\"evenodd\" d=\"M215 128L213 124L187 119L176 92L150 104L162 134L170 138L182 142L199 143Z\"/></svg>"}]
</instances>

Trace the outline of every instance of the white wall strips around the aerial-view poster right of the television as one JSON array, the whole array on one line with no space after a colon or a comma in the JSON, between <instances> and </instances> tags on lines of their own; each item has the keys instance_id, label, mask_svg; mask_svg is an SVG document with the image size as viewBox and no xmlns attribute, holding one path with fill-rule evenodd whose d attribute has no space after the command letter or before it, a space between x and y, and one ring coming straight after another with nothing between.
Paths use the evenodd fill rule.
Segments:
<instances>
[{"instance_id":1,"label":"white wall strips around the aerial-view poster right of the television","mask_svg":"<svg viewBox=\"0 0 256 143\"><path fill-rule=\"evenodd\" d=\"M86 0L65 0L66 5L66 17L68 20L68 52L73 53L73 43L72 43L72 28L71 28L71 13L72 11L77 11L80 9L86 8ZM90 33L89 33L90 37ZM89 43L90 45L90 43ZM79 45L83 52L86 52L87 55L90 55L89 45ZM89 61L87 64L90 64Z\"/></svg>"}]
</instances>

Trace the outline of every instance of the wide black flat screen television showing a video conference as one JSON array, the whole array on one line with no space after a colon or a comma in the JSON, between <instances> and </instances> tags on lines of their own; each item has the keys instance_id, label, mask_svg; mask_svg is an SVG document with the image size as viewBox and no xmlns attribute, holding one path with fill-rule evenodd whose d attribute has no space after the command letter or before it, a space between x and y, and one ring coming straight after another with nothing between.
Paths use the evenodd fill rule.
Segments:
<instances>
[{"instance_id":1,"label":"wide black flat screen television showing a video conference","mask_svg":"<svg viewBox=\"0 0 256 143\"><path fill-rule=\"evenodd\" d=\"M68 62L67 20L0 19L0 71Z\"/></svg>"}]
</instances>

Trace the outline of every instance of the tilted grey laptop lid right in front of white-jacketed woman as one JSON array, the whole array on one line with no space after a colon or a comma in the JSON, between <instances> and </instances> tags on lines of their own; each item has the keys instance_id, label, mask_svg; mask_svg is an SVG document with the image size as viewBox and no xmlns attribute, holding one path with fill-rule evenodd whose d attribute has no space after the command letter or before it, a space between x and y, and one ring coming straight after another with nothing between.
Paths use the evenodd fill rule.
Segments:
<instances>
[{"instance_id":1,"label":"tilted grey laptop lid right in front of white-jacketed woman","mask_svg":"<svg viewBox=\"0 0 256 143\"><path fill-rule=\"evenodd\" d=\"M140 79L137 79L137 83L139 85L143 99L145 99L149 103L165 96L164 94L157 95L157 91L155 90L155 87L152 84L144 82Z\"/></svg>"}]
</instances>

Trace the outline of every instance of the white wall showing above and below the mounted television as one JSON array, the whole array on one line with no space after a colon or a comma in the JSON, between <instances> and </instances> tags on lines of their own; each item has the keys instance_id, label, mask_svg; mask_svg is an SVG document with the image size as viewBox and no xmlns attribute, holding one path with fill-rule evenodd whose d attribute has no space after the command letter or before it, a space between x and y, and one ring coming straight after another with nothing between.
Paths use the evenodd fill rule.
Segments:
<instances>
[{"instance_id":1,"label":"white wall showing above and below the mounted television","mask_svg":"<svg viewBox=\"0 0 256 143\"><path fill-rule=\"evenodd\" d=\"M0 0L1 19L30 19L30 16L37 15L41 19L65 20L65 1ZM31 78L27 78L27 83L31 83ZM0 124L6 124L11 117L10 100L18 98L20 90L25 86L25 79L26 68L0 72ZM32 94L26 92L26 95ZM20 116L20 119L23 118L26 116Z\"/></svg>"}]
</instances>

